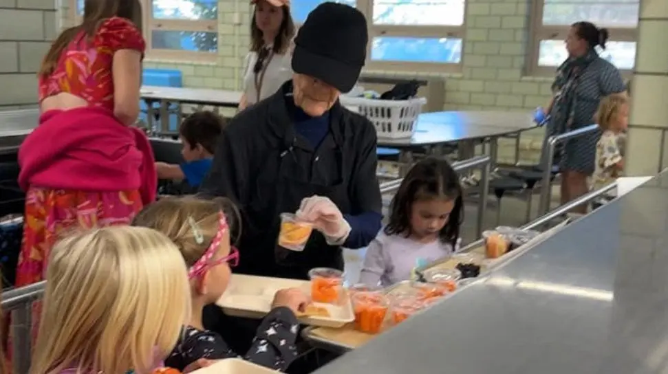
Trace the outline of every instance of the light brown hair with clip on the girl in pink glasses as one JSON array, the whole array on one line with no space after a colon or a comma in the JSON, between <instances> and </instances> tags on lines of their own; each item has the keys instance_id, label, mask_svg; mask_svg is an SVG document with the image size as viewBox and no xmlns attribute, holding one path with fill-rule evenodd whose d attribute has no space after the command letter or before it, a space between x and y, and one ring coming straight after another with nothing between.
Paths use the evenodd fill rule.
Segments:
<instances>
[{"instance_id":1,"label":"light brown hair with clip on the girl in pink glasses","mask_svg":"<svg viewBox=\"0 0 668 374\"><path fill-rule=\"evenodd\" d=\"M186 265L190 267L202 257L217 234L218 213L221 211L228 218L230 237L238 237L239 227L236 223L239 222L239 211L230 200L224 198L213 201L195 197L160 199L137 214L132 225L152 228L165 234L176 244Z\"/></svg>"}]
</instances>

